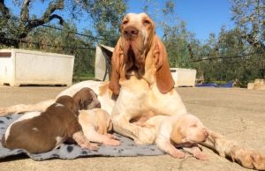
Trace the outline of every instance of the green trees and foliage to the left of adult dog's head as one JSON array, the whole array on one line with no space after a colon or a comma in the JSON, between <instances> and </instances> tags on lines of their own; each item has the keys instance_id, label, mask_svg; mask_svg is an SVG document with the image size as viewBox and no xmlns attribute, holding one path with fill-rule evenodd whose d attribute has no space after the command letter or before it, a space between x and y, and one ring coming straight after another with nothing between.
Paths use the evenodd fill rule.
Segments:
<instances>
[{"instance_id":1,"label":"green trees and foliage to the left of adult dog's head","mask_svg":"<svg viewBox=\"0 0 265 171\"><path fill-rule=\"evenodd\" d=\"M64 20L64 24L60 23L63 24L62 26L49 24L49 27L43 27L43 24L48 24L51 21L43 19L45 22L42 25L26 30L25 28L30 24L30 21L38 20L38 18L35 15L30 16L28 13L33 9L33 4L36 2L27 1L28 4L25 2L22 0L13 1L14 5L23 6L23 8L21 8L21 16L11 14L11 18L1 15L4 13L1 11L1 5L4 5L4 1L0 2L0 47L27 48L73 55L75 56L74 78L77 79L94 75L95 46L98 43L109 46L115 45L118 38L117 26L126 11L126 0L52 0L48 2L47 9L43 9L45 12L42 17L49 15L50 18L54 16L53 11L60 10L61 13L67 15L66 19L61 16L58 17ZM41 3L47 3L47 1ZM57 9L47 12L55 4L58 6ZM22 12L23 9L26 10ZM22 18L25 18L27 22L21 22ZM89 21L81 35L74 24L80 19Z\"/></svg>"}]
</instances>

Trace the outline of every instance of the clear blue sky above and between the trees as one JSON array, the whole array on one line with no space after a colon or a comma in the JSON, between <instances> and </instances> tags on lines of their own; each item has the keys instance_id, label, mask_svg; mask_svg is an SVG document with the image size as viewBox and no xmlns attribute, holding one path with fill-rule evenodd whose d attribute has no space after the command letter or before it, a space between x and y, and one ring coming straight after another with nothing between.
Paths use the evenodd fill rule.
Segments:
<instances>
[{"instance_id":1,"label":"clear blue sky above and between the trees","mask_svg":"<svg viewBox=\"0 0 265 171\"><path fill-rule=\"evenodd\" d=\"M149 0L154 3L150 6L150 11L160 9L164 4L165 0ZM35 3L35 2L34 2ZM19 15L19 8L11 5L11 1L6 1L8 6L11 6L11 11L14 14ZM231 5L229 0L175 0L175 12L179 19L186 21L188 31L195 33L195 36L200 41L208 39L209 33L216 33L218 35L220 28L225 25L226 28L230 29L233 27L231 21ZM34 6L34 13L41 15L46 9L48 3L42 4L37 1ZM142 0L129 0L128 1L128 12L139 13L142 12L143 1ZM40 10L41 9L41 10ZM159 14L153 17L161 18ZM87 26L86 21L80 21L77 23L78 28ZM81 30L80 30L81 32ZM158 34L163 34L160 31ZM162 35L160 35L162 36Z\"/></svg>"}]
</instances>

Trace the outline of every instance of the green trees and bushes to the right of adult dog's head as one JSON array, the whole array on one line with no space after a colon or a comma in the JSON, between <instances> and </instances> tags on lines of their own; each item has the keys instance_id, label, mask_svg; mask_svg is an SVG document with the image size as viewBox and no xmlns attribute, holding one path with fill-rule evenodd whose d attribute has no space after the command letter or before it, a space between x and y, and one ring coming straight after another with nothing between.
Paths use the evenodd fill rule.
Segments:
<instances>
[{"instance_id":1,"label":"green trees and bushes to the right of adult dog's head","mask_svg":"<svg viewBox=\"0 0 265 171\"><path fill-rule=\"evenodd\" d=\"M146 3L153 4L153 1L146 0ZM194 68L204 82L238 80L246 85L255 78L265 78L265 1L232 0L235 28L227 30L223 26L219 35L211 33L204 43L178 19L175 3L166 1L154 14L154 19L163 14L162 20L156 19L156 23L163 30L170 67Z\"/></svg>"}]
</instances>

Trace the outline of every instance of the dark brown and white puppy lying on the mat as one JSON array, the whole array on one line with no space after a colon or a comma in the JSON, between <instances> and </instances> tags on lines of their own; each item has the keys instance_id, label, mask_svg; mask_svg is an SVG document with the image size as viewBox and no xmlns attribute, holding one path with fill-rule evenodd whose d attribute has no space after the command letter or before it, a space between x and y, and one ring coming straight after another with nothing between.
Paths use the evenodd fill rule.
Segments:
<instances>
[{"instance_id":1,"label":"dark brown and white puppy lying on the mat","mask_svg":"<svg viewBox=\"0 0 265 171\"><path fill-rule=\"evenodd\" d=\"M97 145L90 144L78 122L79 109L100 106L94 101L96 97L91 91L89 88L81 89L73 98L61 96L44 112L22 115L5 131L3 146L32 153L48 152L72 138L80 147L96 150Z\"/></svg>"}]
</instances>

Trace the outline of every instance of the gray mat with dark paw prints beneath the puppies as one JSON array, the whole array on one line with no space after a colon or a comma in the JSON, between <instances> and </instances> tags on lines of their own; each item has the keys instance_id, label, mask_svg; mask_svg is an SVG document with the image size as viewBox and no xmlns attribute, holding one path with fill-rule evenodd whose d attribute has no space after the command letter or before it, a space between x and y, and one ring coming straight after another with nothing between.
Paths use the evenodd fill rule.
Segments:
<instances>
[{"instance_id":1,"label":"gray mat with dark paw prints beneath the puppies","mask_svg":"<svg viewBox=\"0 0 265 171\"><path fill-rule=\"evenodd\" d=\"M0 142L4 131L8 125L19 118L20 115L10 115L0 117ZM97 151L90 151L87 149L81 149L78 145L61 145L58 149L50 152L43 152L38 154L29 153L25 150L15 149L9 150L0 144L0 160L6 157L19 155L26 153L33 160L49 160L49 159L76 159L86 156L151 156L151 155L163 155L155 145L135 145L133 140L125 138L121 135L115 134L117 139L121 141L120 146L101 145Z\"/></svg>"}]
</instances>

